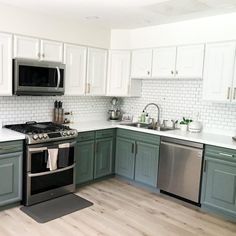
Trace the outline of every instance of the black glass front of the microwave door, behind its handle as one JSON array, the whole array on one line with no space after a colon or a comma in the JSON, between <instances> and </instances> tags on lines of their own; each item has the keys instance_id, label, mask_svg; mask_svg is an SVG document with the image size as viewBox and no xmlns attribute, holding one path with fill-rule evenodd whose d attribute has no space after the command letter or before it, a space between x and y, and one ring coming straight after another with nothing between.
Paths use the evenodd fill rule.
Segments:
<instances>
[{"instance_id":1,"label":"black glass front of the microwave door, behind its handle","mask_svg":"<svg viewBox=\"0 0 236 236\"><path fill-rule=\"evenodd\" d=\"M63 87L63 69L60 69L61 81L59 87ZM56 68L19 66L19 86L29 87L56 87L58 75Z\"/></svg>"}]
</instances>

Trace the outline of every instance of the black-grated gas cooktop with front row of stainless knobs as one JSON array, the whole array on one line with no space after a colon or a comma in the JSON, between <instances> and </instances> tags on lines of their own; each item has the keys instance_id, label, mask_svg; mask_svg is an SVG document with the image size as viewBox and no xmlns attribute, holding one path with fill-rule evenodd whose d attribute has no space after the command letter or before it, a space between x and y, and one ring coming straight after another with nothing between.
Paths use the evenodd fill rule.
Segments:
<instances>
[{"instance_id":1,"label":"black-grated gas cooktop with front row of stainless knobs","mask_svg":"<svg viewBox=\"0 0 236 236\"><path fill-rule=\"evenodd\" d=\"M78 135L76 129L53 122L32 121L25 124L6 125L5 128L25 134L27 144L72 139Z\"/></svg>"}]
</instances>

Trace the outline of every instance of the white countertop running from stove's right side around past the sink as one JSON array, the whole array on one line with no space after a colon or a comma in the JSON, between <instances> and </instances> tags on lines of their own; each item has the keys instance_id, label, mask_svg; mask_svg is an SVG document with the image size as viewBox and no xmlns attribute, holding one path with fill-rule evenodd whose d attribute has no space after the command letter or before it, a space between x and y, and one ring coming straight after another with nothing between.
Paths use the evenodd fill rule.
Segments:
<instances>
[{"instance_id":1,"label":"white countertop running from stove's right side around past the sink","mask_svg":"<svg viewBox=\"0 0 236 236\"><path fill-rule=\"evenodd\" d=\"M132 126L125 126L121 125L120 123L110 122L110 121L79 122L70 125L70 127L77 129L78 132L109 129L109 128L122 128L133 131L139 131L143 133L156 134L163 137L177 138L177 139L188 140L192 142L198 142L236 150L236 142L232 140L231 136L215 134L215 133L207 133L207 132L190 133L190 132L183 132L180 130L156 131Z\"/></svg>"}]
</instances>

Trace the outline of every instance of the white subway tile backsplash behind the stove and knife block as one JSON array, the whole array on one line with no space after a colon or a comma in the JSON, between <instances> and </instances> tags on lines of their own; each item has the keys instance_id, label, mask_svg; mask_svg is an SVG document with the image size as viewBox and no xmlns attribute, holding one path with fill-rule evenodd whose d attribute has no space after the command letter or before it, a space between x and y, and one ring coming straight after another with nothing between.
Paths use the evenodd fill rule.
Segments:
<instances>
[{"instance_id":1,"label":"white subway tile backsplash behind the stove and knife block","mask_svg":"<svg viewBox=\"0 0 236 236\"><path fill-rule=\"evenodd\" d=\"M0 120L3 125L32 120L51 121L55 100L63 102L65 111L73 111L75 121L106 119L110 108L110 98L104 97L0 97Z\"/></svg>"}]
</instances>

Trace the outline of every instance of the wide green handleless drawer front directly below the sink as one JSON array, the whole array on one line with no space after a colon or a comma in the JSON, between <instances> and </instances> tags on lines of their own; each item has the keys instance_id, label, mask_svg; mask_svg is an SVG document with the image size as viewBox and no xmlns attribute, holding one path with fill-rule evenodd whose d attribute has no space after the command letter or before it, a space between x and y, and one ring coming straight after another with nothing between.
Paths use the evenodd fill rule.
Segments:
<instances>
[{"instance_id":1,"label":"wide green handleless drawer front directly below the sink","mask_svg":"<svg viewBox=\"0 0 236 236\"><path fill-rule=\"evenodd\" d=\"M146 142L146 143L153 143L156 145L160 144L160 136L155 135L155 134L146 134L139 131L118 129L117 136L127 138L127 139L134 139L136 141L141 141L141 142Z\"/></svg>"}]
</instances>

